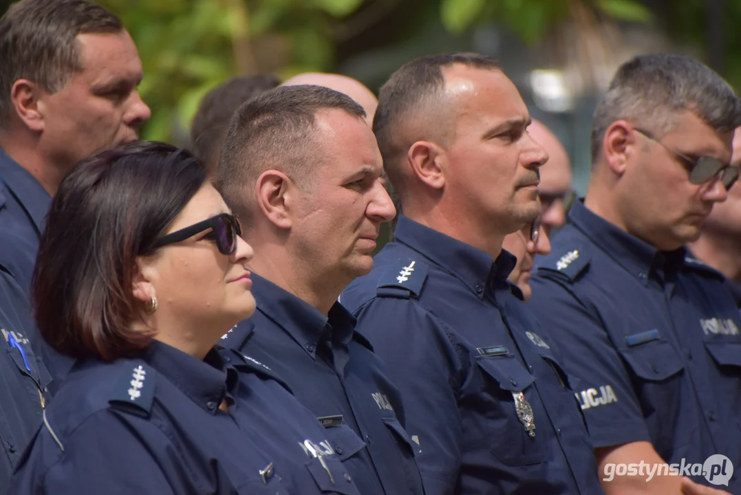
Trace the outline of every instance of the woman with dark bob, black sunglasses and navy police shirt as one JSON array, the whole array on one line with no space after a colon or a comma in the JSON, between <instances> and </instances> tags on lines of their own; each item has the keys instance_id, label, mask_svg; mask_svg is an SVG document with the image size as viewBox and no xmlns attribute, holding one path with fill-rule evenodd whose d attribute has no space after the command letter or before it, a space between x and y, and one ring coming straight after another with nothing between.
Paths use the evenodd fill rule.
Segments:
<instances>
[{"instance_id":1,"label":"woman with dark bob, black sunglasses and navy police shirt","mask_svg":"<svg viewBox=\"0 0 741 495\"><path fill-rule=\"evenodd\" d=\"M255 310L252 249L188 152L138 143L57 192L33 280L76 359L10 492L356 494L322 425L219 338Z\"/></svg>"}]
</instances>

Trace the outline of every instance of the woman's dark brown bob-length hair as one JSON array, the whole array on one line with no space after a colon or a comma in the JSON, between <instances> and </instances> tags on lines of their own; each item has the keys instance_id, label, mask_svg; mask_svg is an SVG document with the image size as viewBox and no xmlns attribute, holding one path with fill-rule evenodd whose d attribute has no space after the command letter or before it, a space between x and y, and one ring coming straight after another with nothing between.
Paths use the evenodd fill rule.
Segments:
<instances>
[{"instance_id":1,"label":"woman's dark brown bob-length hair","mask_svg":"<svg viewBox=\"0 0 741 495\"><path fill-rule=\"evenodd\" d=\"M136 258L153 254L206 181L200 162L169 144L136 142L82 161L52 201L33 274L44 340L72 357L114 360L145 348L130 329Z\"/></svg>"}]
</instances>

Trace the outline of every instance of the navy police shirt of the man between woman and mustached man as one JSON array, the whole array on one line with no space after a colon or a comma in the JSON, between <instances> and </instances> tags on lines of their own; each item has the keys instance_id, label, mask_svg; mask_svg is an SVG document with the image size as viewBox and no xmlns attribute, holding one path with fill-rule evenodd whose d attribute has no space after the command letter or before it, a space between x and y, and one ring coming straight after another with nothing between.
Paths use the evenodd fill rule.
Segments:
<instances>
[{"instance_id":1,"label":"navy police shirt of the man between woman and mustached man","mask_svg":"<svg viewBox=\"0 0 741 495\"><path fill-rule=\"evenodd\" d=\"M330 443L364 495L422 494L399 391L335 303L328 315L253 274L257 311L222 337L264 363L325 425Z\"/></svg>"}]
</instances>

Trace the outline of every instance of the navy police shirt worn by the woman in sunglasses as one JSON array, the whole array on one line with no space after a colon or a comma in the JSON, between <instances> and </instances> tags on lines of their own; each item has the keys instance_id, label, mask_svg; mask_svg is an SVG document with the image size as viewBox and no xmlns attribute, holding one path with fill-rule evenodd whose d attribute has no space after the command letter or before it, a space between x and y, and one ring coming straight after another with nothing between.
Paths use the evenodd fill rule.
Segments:
<instances>
[{"instance_id":1,"label":"navy police shirt worn by the woman in sunglasses","mask_svg":"<svg viewBox=\"0 0 741 495\"><path fill-rule=\"evenodd\" d=\"M358 495L325 434L254 360L153 341L76 363L10 493Z\"/></svg>"}]
</instances>

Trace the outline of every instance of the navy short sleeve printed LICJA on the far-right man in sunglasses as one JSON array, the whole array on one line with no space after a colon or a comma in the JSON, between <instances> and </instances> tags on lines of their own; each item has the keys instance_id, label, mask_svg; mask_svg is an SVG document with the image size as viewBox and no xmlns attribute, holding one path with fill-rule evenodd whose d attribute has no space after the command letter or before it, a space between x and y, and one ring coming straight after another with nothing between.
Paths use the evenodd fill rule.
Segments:
<instances>
[{"instance_id":1,"label":"navy short sleeve printed LICJA on the far-right man in sunglasses","mask_svg":"<svg viewBox=\"0 0 741 495\"><path fill-rule=\"evenodd\" d=\"M558 340L595 447L651 441L631 377L599 317L566 287L534 277L528 307Z\"/></svg>"}]
</instances>

